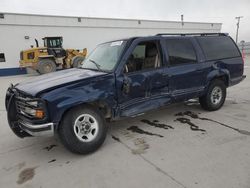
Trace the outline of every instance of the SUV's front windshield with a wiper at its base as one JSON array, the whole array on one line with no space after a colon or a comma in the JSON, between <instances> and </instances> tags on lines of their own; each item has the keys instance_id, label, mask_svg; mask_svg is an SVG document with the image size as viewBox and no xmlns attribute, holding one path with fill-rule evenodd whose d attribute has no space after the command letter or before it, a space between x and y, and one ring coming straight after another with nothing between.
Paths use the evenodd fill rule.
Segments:
<instances>
[{"instance_id":1,"label":"SUV's front windshield with a wiper at its base","mask_svg":"<svg viewBox=\"0 0 250 188\"><path fill-rule=\"evenodd\" d=\"M111 71L114 69L126 41L114 41L100 44L84 60L82 68Z\"/></svg>"}]
</instances>

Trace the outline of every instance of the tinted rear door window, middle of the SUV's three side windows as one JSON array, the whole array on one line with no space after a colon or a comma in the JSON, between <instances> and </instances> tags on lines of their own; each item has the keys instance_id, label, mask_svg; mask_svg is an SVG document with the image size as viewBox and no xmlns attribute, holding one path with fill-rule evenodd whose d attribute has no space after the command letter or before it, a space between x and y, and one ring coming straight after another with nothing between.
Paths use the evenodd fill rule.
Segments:
<instances>
[{"instance_id":1,"label":"tinted rear door window, middle of the SUV's three side windows","mask_svg":"<svg viewBox=\"0 0 250 188\"><path fill-rule=\"evenodd\" d=\"M167 39L166 46L170 65L196 62L194 47L188 39Z\"/></svg>"}]
</instances>

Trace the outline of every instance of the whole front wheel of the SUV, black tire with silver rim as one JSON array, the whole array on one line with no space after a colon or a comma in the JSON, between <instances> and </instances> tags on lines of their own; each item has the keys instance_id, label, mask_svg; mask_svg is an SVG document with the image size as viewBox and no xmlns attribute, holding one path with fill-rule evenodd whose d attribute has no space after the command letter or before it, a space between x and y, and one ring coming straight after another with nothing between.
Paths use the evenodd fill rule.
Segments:
<instances>
[{"instance_id":1,"label":"whole front wheel of the SUV, black tire with silver rim","mask_svg":"<svg viewBox=\"0 0 250 188\"><path fill-rule=\"evenodd\" d=\"M87 154L104 142L107 126L101 113L90 106L70 110L59 126L63 145L74 153Z\"/></svg>"}]
</instances>

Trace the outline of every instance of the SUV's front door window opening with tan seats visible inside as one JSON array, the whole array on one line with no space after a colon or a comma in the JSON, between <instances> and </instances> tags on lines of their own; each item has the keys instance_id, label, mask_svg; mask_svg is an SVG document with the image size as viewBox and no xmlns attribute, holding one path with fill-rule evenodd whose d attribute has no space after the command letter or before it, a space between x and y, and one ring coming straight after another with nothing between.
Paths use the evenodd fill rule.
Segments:
<instances>
[{"instance_id":1,"label":"SUV's front door window opening with tan seats visible inside","mask_svg":"<svg viewBox=\"0 0 250 188\"><path fill-rule=\"evenodd\" d=\"M124 68L125 73L154 69L161 66L159 48L156 42L139 43L129 56Z\"/></svg>"}]
</instances>

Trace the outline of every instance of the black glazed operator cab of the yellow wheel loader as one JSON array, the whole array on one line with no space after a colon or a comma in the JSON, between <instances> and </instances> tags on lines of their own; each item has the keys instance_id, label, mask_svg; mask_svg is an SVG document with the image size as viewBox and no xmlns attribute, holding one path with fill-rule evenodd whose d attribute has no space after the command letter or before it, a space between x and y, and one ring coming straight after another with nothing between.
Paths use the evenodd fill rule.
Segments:
<instances>
[{"instance_id":1,"label":"black glazed operator cab of the yellow wheel loader","mask_svg":"<svg viewBox=\"0 0 250 188\"><path fill-rule=\"evenodd\" d=\"M62 37L44 37L44 47L48 48L48 54L53 55L56 58L62 58L66 56L66 51L62 47Z\"/></svg>"}]
</instances>

